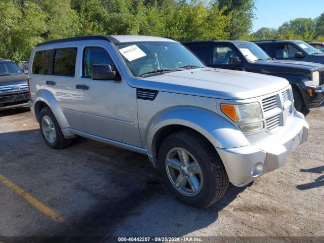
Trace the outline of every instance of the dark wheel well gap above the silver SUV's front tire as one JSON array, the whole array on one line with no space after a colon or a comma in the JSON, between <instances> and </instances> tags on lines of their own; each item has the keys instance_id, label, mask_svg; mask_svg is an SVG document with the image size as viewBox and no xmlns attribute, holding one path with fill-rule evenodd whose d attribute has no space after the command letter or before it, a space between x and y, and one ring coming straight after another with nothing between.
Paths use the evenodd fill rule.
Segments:
<instances>
[{"instance_id":1,"label":"dark wheel well gap above the silver SUV's front tire","mask_svg":"<svg viewBox=\"0 0 324 243\"><path fill-rule=\"evenodd\" d=\"M206 141L208 141L210 146L214 148L213 144L203 134L197 132L196 130L194 130L194 129L190 128L190 127L183 126L183 125L168 125L168 126L165 126L163 128L160 128L157 131L157 133L155 134L154 138L153 138L153 146L152 146L153 151L152 151L152 154L155 154L157 161L158 161L159 148L160 148L162 142L170 134L178 132L180 130L188 130L188 131L192 131L192 132L196 133L197 135L199 135L199 136L203 137L204 139L206 139ZM216 152L216 150L215 150L215 152Z\"/></svg>"}]
</instances>

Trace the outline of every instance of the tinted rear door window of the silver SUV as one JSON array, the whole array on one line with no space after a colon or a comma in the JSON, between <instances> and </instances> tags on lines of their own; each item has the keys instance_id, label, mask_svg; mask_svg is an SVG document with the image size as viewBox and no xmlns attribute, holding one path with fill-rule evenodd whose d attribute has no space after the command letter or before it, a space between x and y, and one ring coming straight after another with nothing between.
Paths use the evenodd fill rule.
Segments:
<instances>
[{"instance_id":1,"label":"tinted rear door window of the silver SUV","mask_svg":"<svg viewBox=\"0 0 324 243\"><path fill-rule=\"evenodd\" d=\"M53 64L53 74L74 76L77 48L56 49Z\"/></svg>"}]
</instances>

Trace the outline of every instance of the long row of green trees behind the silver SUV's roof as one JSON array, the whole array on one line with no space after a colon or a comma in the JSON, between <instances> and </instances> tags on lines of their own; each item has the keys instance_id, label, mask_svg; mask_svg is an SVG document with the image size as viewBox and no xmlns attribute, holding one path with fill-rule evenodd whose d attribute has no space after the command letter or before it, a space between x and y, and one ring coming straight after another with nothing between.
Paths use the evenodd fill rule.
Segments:
<instances>
[{"instance_id":1,"label":"long row of green trees behind the silver SUV's roof","mask_svg":"<svg viewBox=\"0 0 324 243\"><path fill-rule=\"evenodd\" d=\"M241 38L253 10L254 0L1 0L0 57L28 60L39 42L91 34Z\"/></svg>"}]
</instances>

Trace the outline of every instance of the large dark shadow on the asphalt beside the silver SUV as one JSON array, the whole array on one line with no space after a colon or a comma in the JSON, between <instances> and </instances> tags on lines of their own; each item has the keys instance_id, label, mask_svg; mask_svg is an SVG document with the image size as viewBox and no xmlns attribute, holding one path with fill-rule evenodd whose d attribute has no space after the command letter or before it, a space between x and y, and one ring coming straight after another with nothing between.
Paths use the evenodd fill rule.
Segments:
<instances>
[{"instance_id":1,"label":"large dark shadow on the asphalt beside the silver SUV","mask_svg":"<svg viewBox=\"0 0 324 243\"><path fill-rule=\"evenodd\" d=\"M27 213L19 218L0 218L0 235L22 236L21 241L15 238L14 242L25 242L35 235L36 242L62 241L62 237L68 242L109 242L107 236L127 234L182 236L214 223L218 212L251 185L230 185L216 204L195 209L180 203L168 191L143 154L80 137L74 145L55 150L45 144L38 129L2 133L0 141L3 139L6 143L0 147L0 174L53 206L66 221L52 222L28 205L23 208ZM0 194L9 196L1 187ZM20 204L14 201L14 206L7 205L3 210L22 207ZM1 225L6 225L6 232Z\"/></svg>"}]
</instances>

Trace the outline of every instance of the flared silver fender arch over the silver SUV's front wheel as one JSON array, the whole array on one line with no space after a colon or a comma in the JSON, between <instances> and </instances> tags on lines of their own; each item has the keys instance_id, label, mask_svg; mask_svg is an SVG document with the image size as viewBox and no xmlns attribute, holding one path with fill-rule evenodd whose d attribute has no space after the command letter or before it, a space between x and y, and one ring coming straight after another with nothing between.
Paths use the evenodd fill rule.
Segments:
<instances>
[{"instance_id":1,"label":"flared silver fender arch over the silver SUV's front wheel","mask_svg":"<svg viewBox=\"0 0 324 243\"><path fill-rule=\"evenodd\" d=\"M146 129L147 153L154 167L157 167L158 149L163 140L183 129L199 133L213 147L231 148L250 144L236 127L212 111L196 107L170 108L154 116Z\"/></svg>"}]
</instances>

